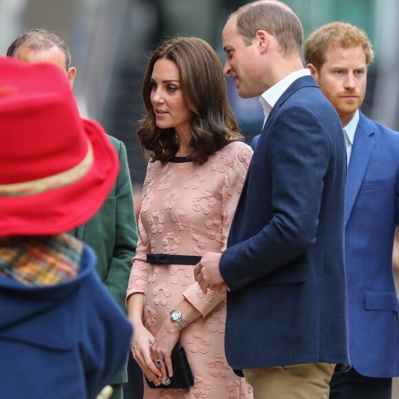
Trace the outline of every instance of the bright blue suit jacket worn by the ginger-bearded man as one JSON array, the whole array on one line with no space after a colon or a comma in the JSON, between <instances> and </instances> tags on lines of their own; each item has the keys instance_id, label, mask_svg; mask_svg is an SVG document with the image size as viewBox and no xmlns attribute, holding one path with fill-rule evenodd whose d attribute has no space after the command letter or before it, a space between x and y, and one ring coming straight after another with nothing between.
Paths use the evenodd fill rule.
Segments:
<instances>
[{"instance_id":1,"label":"bright blue suit jacket worn by the ginger-bearded man","mask_svg":"<svg viewBox=\"0 0 399 399\"><path fill-rule=\"evenodd\" d=\"M399 376L399 304L392 272L399 224L399 133L360 113L349 162L345 264L349 353L365 376Z\"/></svg>"}]
</instances>

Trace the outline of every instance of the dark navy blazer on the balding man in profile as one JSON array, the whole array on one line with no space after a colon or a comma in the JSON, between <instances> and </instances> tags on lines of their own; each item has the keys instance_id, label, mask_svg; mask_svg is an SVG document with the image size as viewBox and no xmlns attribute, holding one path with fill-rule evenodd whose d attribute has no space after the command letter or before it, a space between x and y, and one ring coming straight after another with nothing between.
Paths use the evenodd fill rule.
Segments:
<instances>
[{"instance_id":1,"label":"dark navy blazer on the balding man in profile","mask_svg":"<svg viewBox=\"0 0 399 399\"><path fill-rule=\"evenodd\" d=\"M226 358L240 369L349 363L341 122L312 76L279 98L259 138L220 271Z\"/></svg>"}]
</instances>

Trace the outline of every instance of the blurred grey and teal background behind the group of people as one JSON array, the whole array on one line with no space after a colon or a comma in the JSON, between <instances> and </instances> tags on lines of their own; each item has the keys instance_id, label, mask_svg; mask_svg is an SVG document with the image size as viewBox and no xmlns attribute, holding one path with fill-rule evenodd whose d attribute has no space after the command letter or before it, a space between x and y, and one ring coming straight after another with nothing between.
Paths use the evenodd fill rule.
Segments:
<instances>
[{"instance_id":1,"label":"blurred grey and teal background behind the group of people","mask_svg":"<svg viewBox=\"0 0 399 399\"><path fill-rule=\"evenodd\" d=\"M133 191L140 195L147 161L136 130L143 114L147 58L166 36L199 36L217 50L239 0L0 0L0 54L31 28L52 30L67 42L77 70L74 91L83 116L101 122L125 142ZM364 113L399 130L399 1L285 0L303 23L305 38L324 23L344 21L367 32L376 59L368 74ZM228 80L230 103L250 143L263 111L257 98L241 99ZM399 398L398 378L393 398Z\"/></svg>"}]
</instances>

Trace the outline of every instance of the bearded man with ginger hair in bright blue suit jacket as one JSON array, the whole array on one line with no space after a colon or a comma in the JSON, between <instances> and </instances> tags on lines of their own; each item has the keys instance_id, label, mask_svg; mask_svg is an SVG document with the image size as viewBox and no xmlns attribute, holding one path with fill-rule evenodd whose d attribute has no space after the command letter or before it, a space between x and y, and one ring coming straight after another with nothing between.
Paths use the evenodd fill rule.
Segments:
<instances>
[{"instance_id":1,"label":"bearded man with ginger hair in bright blue suit jacket","mask_svg":"<svg viewBox=\"0 0 399 399\"><path fill-rule=\"evenodd\" d=\"M367 34L334 22L313 32L305 61L344 127L349 162L345 205L349 355L330 398L391 398L399 376L399 304L392 270L399 224L399 134L359 110L374 54Z\"/></svg>"}]
</instances>

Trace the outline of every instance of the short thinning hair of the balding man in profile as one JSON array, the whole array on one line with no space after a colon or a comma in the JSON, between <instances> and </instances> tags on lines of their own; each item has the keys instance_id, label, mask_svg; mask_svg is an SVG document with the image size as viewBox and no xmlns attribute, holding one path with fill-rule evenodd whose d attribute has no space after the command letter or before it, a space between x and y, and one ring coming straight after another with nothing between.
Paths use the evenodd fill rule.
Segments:
<instances>
[{"instance_id":1,"label":"short thinning hair of the balding man in profile","mask_svg":"<svg viewBox=\"0 0 399 399\"><path fill-rule=\"evenodd\" d=\"M232 17L237 17L237 32L243 36L246 45L252 43L258 30L266 30L276 38L285 56L301 52L302 24L285 3L277 0L253 1L233 12Z\"/></svg>"}]
</instances>

